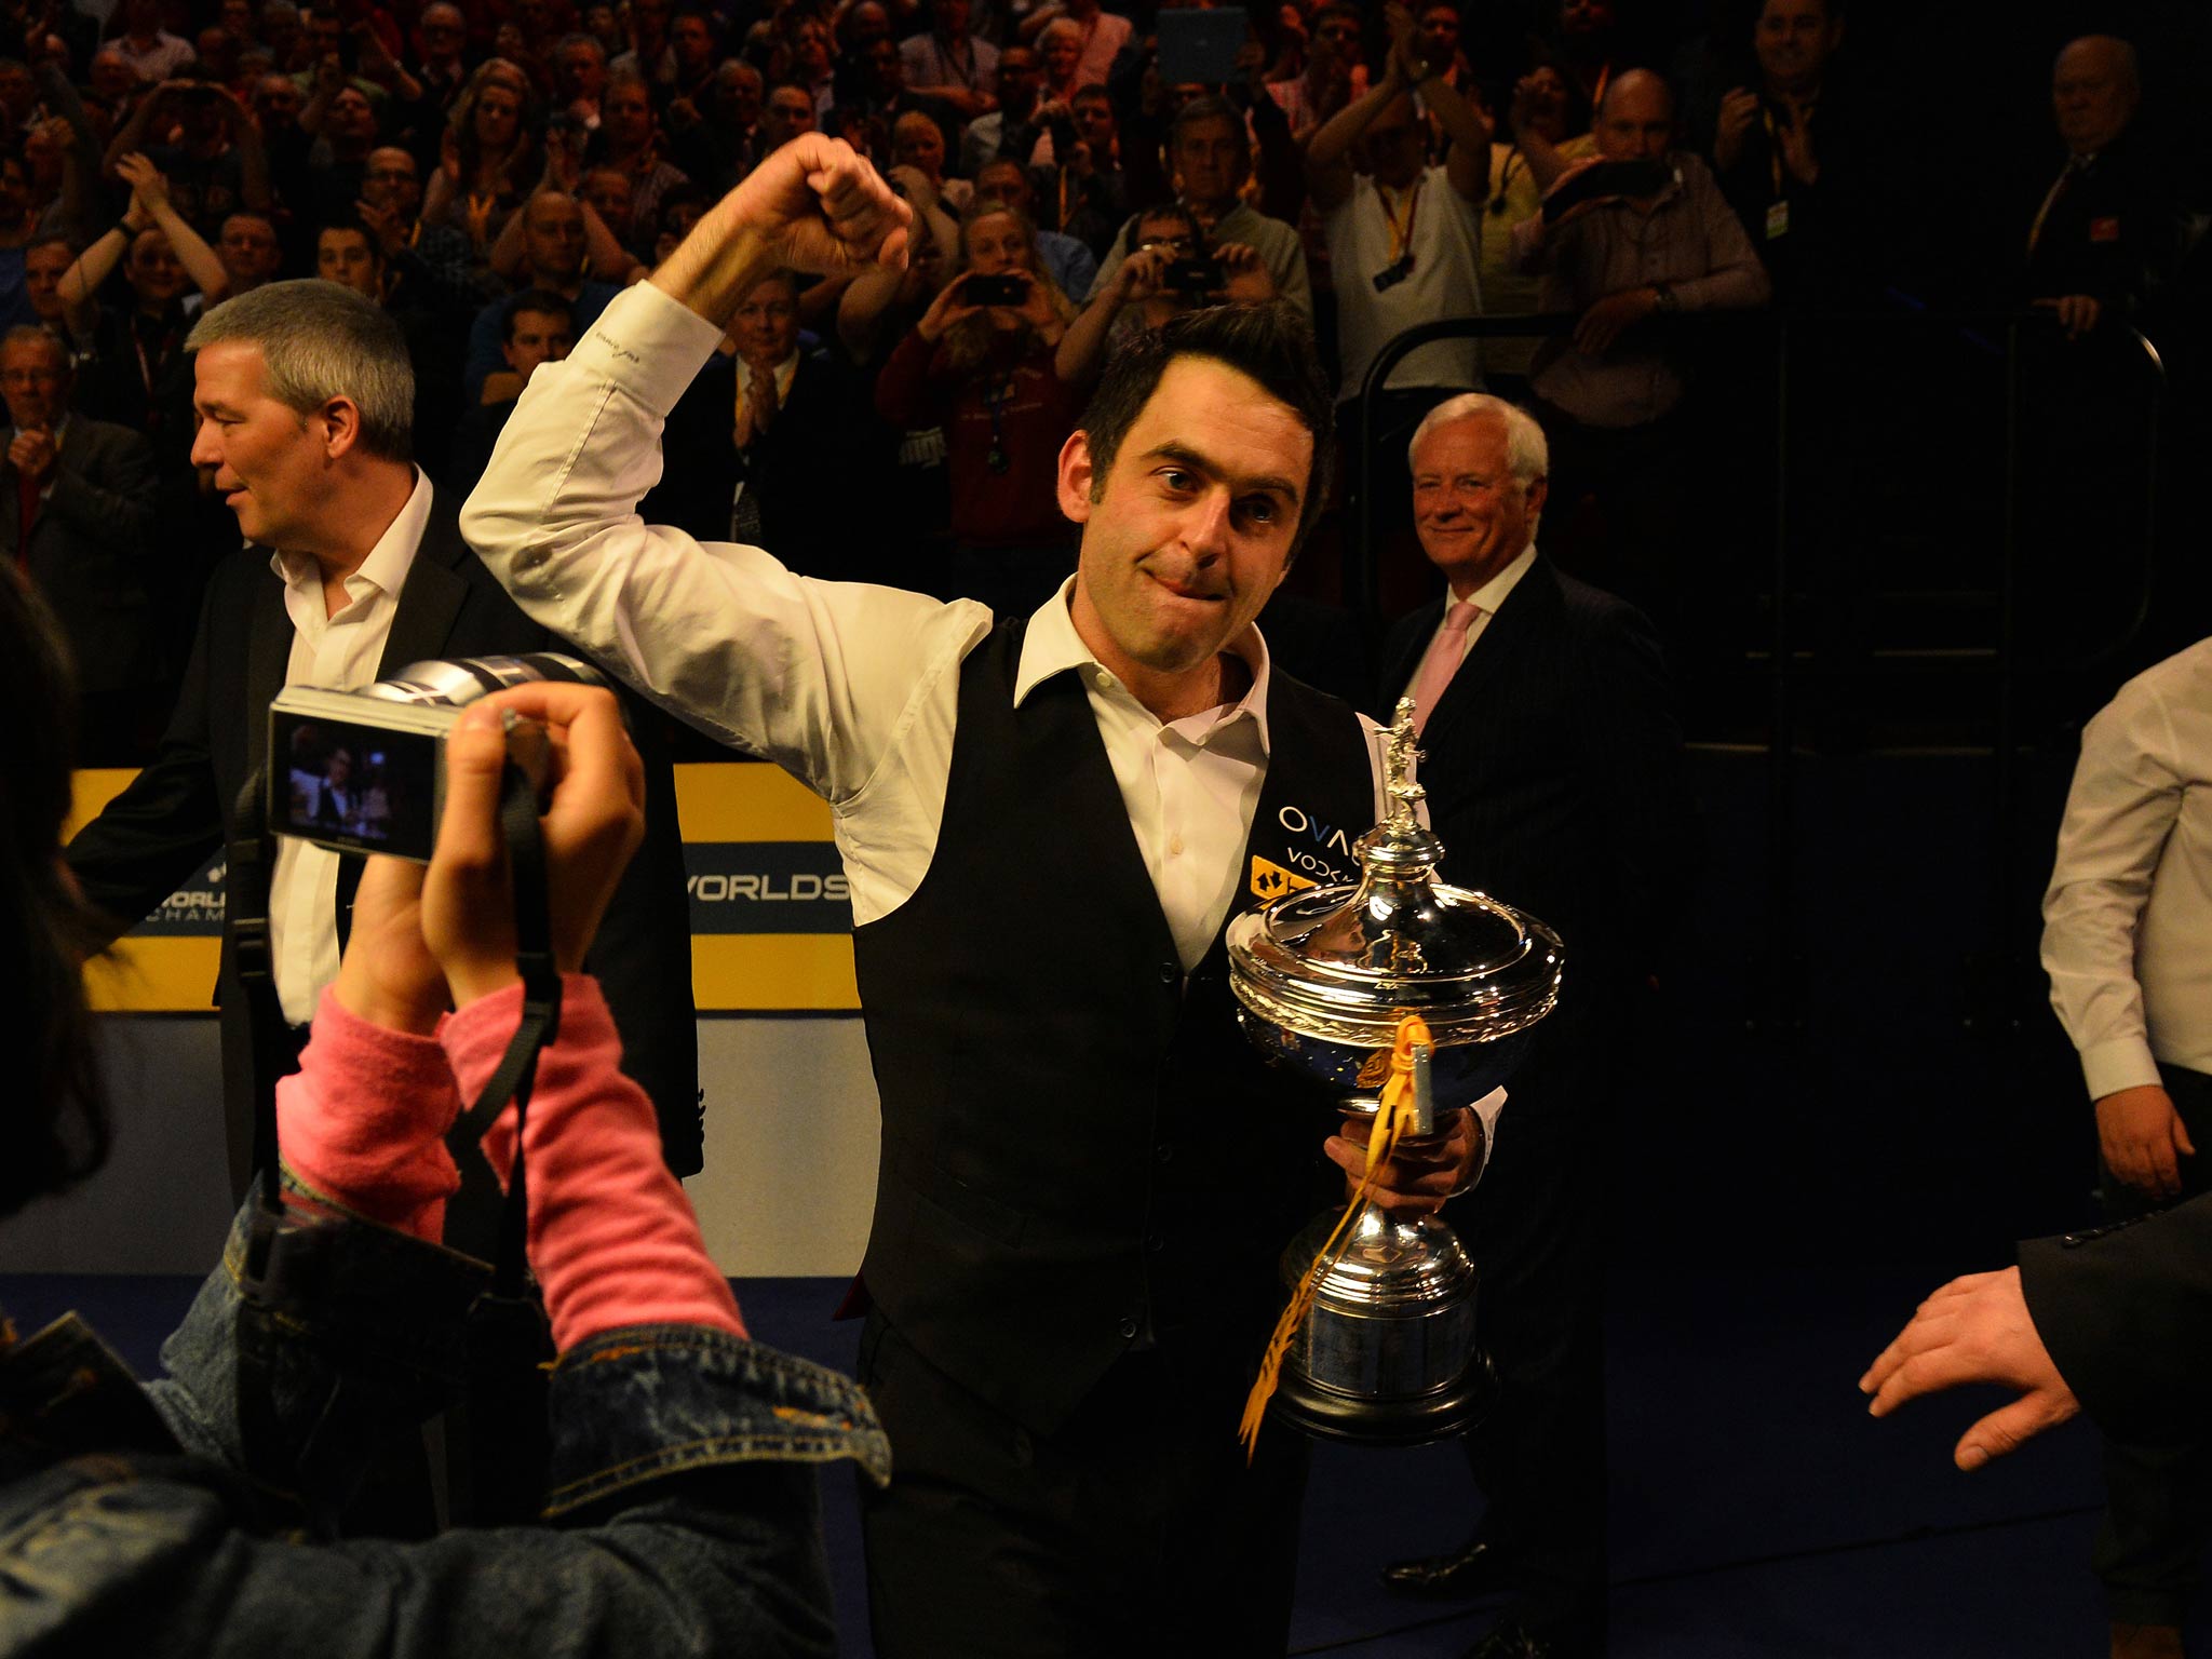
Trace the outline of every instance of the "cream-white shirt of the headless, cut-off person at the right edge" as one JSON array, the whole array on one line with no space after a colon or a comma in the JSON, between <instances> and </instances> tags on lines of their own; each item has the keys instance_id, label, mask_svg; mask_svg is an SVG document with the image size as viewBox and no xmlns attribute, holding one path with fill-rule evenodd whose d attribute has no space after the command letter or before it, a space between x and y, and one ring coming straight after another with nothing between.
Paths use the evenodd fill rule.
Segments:
<instances>
[{"instance_id":1,"label":"cream-white shirt of the headless, cut-off person at the right edge","mask_svg":"<svg viewBox=\"0 0 2212 1659\"><path fill-rule=\"evenodd\" d=\"M2161 1060L2212 1073L2212 639L2081 732L2044 969L2093 1099L2157 1084Z\"/></svg>"}]
</instances>

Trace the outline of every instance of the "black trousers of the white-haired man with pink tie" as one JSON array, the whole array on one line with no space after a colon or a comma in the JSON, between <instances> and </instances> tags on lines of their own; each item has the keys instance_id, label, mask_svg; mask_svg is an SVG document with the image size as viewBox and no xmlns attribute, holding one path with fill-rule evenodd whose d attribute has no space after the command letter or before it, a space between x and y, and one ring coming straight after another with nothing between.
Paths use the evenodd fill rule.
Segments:
<instances>
[{"instance_id":1,"label":"black trousers of the white-haired man with pink tie","mask_svg":"<svg viewBox=\"0 0 2212 1659\"><path fill-rule=\"evenodd\" d=\"M1482 1537L1533 1628L1606 1626L1604 1106L1621 1022L1590 987L1537 1026L1506 1082L1480 1186L1444 1214L1482 1274L1475 1327L1498 1405L1467 1436ZM1610 1002L1610 1000L1608 1000Z\"/></svg>"}]
</instances>

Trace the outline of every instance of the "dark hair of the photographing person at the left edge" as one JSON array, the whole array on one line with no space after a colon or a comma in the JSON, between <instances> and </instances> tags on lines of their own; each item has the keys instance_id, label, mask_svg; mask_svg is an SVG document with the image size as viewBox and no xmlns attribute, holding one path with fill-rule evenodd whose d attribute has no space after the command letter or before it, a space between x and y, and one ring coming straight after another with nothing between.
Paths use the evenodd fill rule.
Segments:
<instances>
[{"instance_id":1,"label":"dark hair of the photographing person at the left edge","mask_svg":"<svg viewBox=\"0 0 2212 1659\"><path fill-rule=\"evenodd\" d=\"M24 582L0 582L0 1217L108 1155L106 1095L80 962L100 936L55 847L69 814L77 688L62 633Z\"/></svg>"}]
</instances>

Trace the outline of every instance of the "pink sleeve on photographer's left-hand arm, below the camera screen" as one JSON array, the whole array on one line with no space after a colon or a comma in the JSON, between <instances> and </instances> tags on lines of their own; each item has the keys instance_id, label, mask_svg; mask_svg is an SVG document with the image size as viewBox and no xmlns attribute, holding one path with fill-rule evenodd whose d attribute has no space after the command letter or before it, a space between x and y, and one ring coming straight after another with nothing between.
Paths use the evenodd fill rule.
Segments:
<instances>
[{"instance_id":1,"label":"pink sleeve on photographer's left-hand arm, below the camera screen","mask_svg":"<svg viewBox=\"0 0 2212 1659\"><path fill-rule=\"evenodd\" d=\"M323 991L299 1073L276 1084L276 1146L325 1199L436 1243L460 1190L445 1150L458 1113L436 1037L369 1024Z\"/></svg>"}]
</instances>

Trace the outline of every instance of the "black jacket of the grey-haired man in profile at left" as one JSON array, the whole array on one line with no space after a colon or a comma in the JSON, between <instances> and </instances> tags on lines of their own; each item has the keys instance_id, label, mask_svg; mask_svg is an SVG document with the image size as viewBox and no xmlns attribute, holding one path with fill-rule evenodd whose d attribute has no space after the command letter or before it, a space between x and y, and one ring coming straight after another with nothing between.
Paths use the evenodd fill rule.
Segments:
<instances>
[{"instance_id":1,"label":"black jacket of the grey-haired man in profile at left","mask_svg":"<svg viewBox=\"0 0 2212 1659\"><path fill-rule=\"evenodd\" d=\"M460 538L456 500L449 491L434 495L378 672L427 657L575 653L524 617L491 580ZM84 896L115 920L117 933L153 911L237 832L239 792L263 759L263 710L283 690L292 653L283 584L268 562L268 549L248 546L217 566L161 752L69 843L69 867ZM666 726L657 714L641 714L633 703L633 730L646 757L646 841L615 889L591 969L622 1031L624 1071L646 1088L661 1117L668 1164L690 1175L699 1168L699 1035L684 843ZM358 883L361 858L349 856L338 869L341 942ZM252 1148L252 1029L228 931L217 1002L232 1179L243 1188Z\"/></svg>"}]
</instances>

